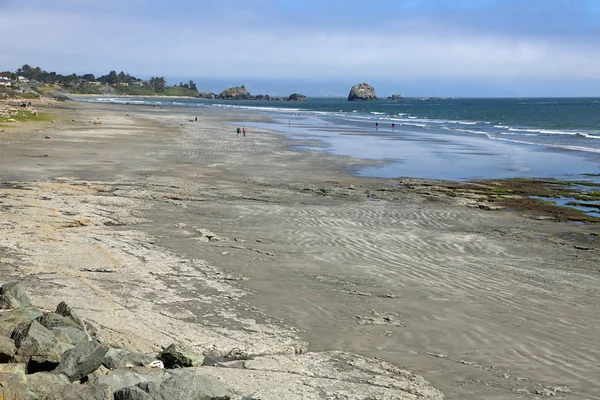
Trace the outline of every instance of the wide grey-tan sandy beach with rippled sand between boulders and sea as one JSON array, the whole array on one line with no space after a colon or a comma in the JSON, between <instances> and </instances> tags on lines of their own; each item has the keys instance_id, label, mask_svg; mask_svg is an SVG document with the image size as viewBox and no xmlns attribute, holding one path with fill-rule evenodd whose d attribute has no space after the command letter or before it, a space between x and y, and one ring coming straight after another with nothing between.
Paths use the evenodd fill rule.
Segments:
<instances>
[{"instance_id":1,"label":"wide grey-tan sandy beach with rippled sand between boulders and sea","mask_svg":"<svg viewBox=\"0 0 600 400\"><path fill-rule=\"evenodd\" d=\"M56 123L0 133L0 283L107 342L254 358L202 367L240 398L600 398L597 224L353 177L373 161L229 123L262 117L40 111Z\"/></svg>"}]
</instances>

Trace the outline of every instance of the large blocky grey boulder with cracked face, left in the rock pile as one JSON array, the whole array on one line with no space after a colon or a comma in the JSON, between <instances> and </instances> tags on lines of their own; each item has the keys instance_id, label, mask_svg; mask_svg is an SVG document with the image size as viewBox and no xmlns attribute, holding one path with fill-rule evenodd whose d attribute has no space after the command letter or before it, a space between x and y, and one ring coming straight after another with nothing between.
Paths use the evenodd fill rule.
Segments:
<instances>
[{"instance_id":1,"label":"large blocky grey boulder with cracked face, left in the rock pile","mask_svg":"<svg viewBox=\"0 0 600 400\"><path fill-rule=\"evenodd\" d=\"M61 354L71 345L56 340L54 334L38 321L25 321L13 331L17 346L15 360L27 363L29 373L52 371L60 363Z\"/></svg>"}]
</instances>

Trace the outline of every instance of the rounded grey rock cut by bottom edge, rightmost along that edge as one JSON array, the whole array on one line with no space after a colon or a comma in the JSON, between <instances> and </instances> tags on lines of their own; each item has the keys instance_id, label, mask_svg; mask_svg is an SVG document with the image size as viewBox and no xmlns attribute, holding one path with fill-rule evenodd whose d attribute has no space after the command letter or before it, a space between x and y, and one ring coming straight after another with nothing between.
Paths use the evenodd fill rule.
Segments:
<instances>
[{"instance_id":1,"label":"rounded grey rock cut by bottom edge, rightmost along that edge","mask_svg":"<svg viewBox=\"0 0 600 400\"><path fill-rule=\"evenodd\" d=\"M229 400L229 391L223 383L212 376L177 374L162 383L143 383L139 387L153 399L167 400Z\"/></svg>"}]
</instances>

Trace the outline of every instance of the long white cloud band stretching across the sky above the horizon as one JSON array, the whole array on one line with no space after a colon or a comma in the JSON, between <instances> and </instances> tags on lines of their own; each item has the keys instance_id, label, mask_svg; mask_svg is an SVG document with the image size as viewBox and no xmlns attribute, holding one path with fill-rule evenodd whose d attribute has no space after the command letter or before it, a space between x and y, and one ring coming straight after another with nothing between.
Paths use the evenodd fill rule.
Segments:
<instances>
[{"instance_id":1,"label":"long white cloud band stretching across the sky above the horizon","mask_svg":"<svg viewBox=\"0 0 600 400\"><path fill-rule=\"evenodd\" d=\"M25 27L25 28L24 28ZM405 30L285 29L201 21L20 12L0 15L0 54L58 72L306 79L600 79L590 43L474 35L410 24ZM18 40L17 40L18 37ZM16 68L19 65L0 66Z\"/></svg>"}]
</instances>

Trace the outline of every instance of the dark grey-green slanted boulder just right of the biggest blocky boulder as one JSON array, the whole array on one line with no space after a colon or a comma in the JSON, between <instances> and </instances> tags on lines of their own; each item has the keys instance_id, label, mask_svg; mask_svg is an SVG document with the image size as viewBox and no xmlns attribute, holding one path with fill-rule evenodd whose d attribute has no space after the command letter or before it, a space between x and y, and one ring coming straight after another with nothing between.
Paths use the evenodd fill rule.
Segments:
<instances>
[{"instance_id":1,"label":"dark grey-green slanted boulder just right of the biggest blocky boulder","mask_svg":"<svg viewBox=\"0 0 600 400\"><path fill-rule=\"evenodd\" d=\"M55 372L77 381L100 367L107 351L97 340L80 343L64 352Z\"/></svg>"}]
</instances>

